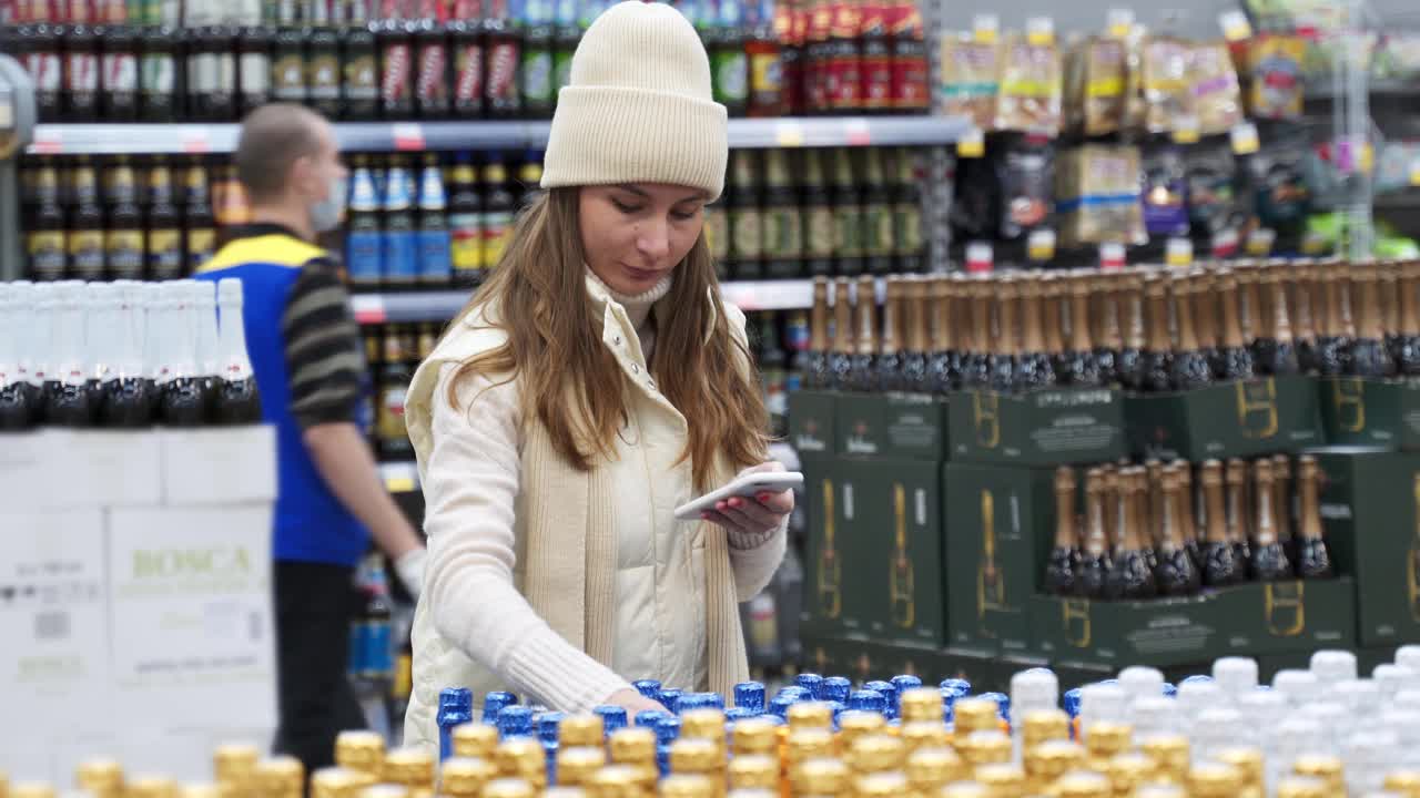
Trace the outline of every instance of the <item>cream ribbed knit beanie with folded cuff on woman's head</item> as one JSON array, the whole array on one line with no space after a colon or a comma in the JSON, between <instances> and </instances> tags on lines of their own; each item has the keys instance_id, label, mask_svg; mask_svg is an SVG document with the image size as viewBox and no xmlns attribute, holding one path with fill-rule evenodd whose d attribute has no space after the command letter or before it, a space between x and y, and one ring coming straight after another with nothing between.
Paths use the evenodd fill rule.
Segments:
<instances>
[{"instance_id":1,"label":"cream ribbed knit beanie with folded cuff on woman's head","mask_svg":"<svg viewBox=\"0 0 1420 798\"><path fill-rule=\"evenodd\" d=\"M542 187L670 183L714 199L727 156L710 60L680 11L626 0L596 17L557 95Z\"/></svg>"}]
</instances>

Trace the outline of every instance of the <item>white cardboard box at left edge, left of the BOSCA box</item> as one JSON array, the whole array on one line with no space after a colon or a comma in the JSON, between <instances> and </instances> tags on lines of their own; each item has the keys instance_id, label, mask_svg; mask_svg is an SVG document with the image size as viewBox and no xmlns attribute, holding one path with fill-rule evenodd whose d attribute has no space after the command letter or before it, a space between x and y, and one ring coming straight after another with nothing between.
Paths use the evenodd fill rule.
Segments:
<instances>
[{"instance_id":1,"label":"white cardboard box at left edge, left of the BOSCA box","mask_svg":"<svg viewBox=\"0 0 1420 798\"><path fill-rule=\"evenodd\" d=\"M0 751L112 723L98 510L0 514Z\"/></svg>"}]
</instances>

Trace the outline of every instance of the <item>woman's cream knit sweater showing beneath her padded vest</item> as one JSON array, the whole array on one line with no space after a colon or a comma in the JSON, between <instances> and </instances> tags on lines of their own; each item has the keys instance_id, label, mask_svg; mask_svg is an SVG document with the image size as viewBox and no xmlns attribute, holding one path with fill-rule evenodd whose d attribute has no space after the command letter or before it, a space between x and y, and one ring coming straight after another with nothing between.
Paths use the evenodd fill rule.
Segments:
<instances>
[{"instance_id":1,"label":"woman's cream knit sweater showing beneath her padded vest","mask_svg":"<svg viewBox=\"0 0 1420 798\"><path fill-rule=\"evenodd\" d=\"M655 321L652 307L670 290L670 278L639 297L612 293L591 273L589 285L611 295L635 325L642 362L652 361ZM559 636L528 603L514 584L521 542L515 540L515 508L520 497L518 473L525 443L520 417L517 386L493 383L486 378L466 379L459 386L459 409L449 405L447 386L457 366L446 364L439 372L432 395L430 427L436 446L426 463L425 498L429 534L427 595L435 626L449 643L466 656L496 665L507 683L528 692L551 707L584 711L601 703L629 682L653 673L618 673L613 666L645 662L645 652L630 646L613 649L612 666L604 665ZM633 487L633 486L632 486ZM547 497L538 497L547 501ZM555 498L554 498L555 501ZM640 521L640 520L638 520ZM665 520L646 518L646 524ZM625 532L618 534L622 545ZM730 534L730 565L736 594L747 601L772 576L785 548L784 525L764 535ZM656 612L686 613L684 596ZM638 613L616 612L615 635L633 642L645 635L623 629L622 618ZM645 613L639 613L645 618ZM706 679L704 638L699 652L676 652L696 662L687 679L703 684ZM630 666L630 665L628 665ZM682 669L674 669L683 672ZM416 674L417 677L419 674ZM694 689L697 684L683 684ZM481 696L477 699L481 700Z\"/></svg>"}]
</instances>

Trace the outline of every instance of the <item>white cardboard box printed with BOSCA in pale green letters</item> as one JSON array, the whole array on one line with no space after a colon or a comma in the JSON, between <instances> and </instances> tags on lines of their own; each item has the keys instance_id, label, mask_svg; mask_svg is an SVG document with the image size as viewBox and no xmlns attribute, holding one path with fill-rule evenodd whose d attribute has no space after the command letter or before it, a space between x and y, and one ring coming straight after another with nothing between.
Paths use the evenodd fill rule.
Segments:
<instances>
[{"instance_id":1,"label":"white cardboard box printed with BOSCA in pale green letters","mask_svg":"<svg viewBox=\"0 0 1420 798\"><path fill-rule=\"evenodd\" d=\"M274 728L271 505L114 510L108 551L116 717Z\"/></svg>"}]
</instances>

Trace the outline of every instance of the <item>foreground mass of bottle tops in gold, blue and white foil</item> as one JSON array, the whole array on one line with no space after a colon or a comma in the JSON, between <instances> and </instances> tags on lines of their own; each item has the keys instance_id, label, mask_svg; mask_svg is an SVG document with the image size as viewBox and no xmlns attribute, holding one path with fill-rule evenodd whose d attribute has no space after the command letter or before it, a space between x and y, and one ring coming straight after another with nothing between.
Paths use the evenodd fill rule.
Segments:
<instances>
[{"instance_id":1,"label":"foreground mass of bottle tops in gold, blue and white foil","mask_svg":"<svg viewBox=\"0 0 1420 798\"><path fill-rule=\"evenodd\" d=\"M853 690L848 679L805 673L768 703L761 684L741 684L733 709L721 696L677 696L645 682L638 690L679 713L640 713L633 723L619 707L538 713L507 693L490 693L474 721L469 690L444 689L439 755L345 731L337 767L311 774L311 795L1414 795L1420 748L1409 743L1420 733L1420 646L1402 646L1393 663L1359 676L1345 650L1319 650L1269 687L1245 657L1218 659L1211 676L1177 687L1153 667L1130 666L1064 694L1045 667L1015 673L1010 696L973 694L961 679L923 689L897 676ZM261 760L248 744L220 745L213 771L214 785L179 792L170 780L128 780L119 763L94 760L75 781L94 798L294 798L304 781L300 763ZM16 784L10 795L55 791Z\"/></svg>"}]
</instances>

